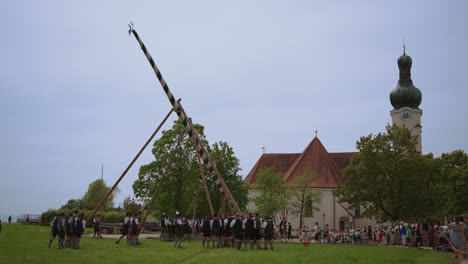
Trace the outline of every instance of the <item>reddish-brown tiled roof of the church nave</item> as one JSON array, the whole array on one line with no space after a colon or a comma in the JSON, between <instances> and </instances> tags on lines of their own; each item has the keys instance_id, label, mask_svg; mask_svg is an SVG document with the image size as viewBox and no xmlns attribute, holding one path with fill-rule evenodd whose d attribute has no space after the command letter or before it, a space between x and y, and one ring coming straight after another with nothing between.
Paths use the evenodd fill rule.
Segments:
<instances>
[{"instance_id":1,"label":"reddish-brown tiled roof of the church nave","mask_svg":"<svg viewBox=\"0 0 468 264\"><path fill-rule=\"evenodd\" d=\"M309 169L317 179L310 187L338 187L343 184L341 170L349 165L357 152L328 153L320 140L315 137L302 153L263 154L249 172L244 182L255 188L257 173L264 167L273 167L277 173L284 175L286 184L291 185L294 179Z\"/></svg>"}]
</instances>

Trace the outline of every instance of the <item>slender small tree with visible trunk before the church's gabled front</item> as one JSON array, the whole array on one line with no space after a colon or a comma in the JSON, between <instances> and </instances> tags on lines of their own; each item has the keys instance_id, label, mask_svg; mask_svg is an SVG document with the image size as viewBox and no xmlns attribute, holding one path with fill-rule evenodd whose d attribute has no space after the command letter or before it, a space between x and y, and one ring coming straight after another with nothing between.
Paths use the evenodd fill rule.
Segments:
<instances>
[{"instance_id":1,"label":"slender small tree with visible trunk before the church's gabled front","mask_svg":"<svg viewBox=\"0 0 468 264\"><path fill-rule=\"evenodd\" d=\"M302 227L303 216L307 205L310 205L311 212L313 215L314 211L320 210L318 204L322 200L322 194L314 191L310 185L316 180L317 177L307 169L304 175L296 177L292 183L292 186L287 190L288 197L288 208L295 215L299 215L299 227Z\"/></svg>"}]
</instances>

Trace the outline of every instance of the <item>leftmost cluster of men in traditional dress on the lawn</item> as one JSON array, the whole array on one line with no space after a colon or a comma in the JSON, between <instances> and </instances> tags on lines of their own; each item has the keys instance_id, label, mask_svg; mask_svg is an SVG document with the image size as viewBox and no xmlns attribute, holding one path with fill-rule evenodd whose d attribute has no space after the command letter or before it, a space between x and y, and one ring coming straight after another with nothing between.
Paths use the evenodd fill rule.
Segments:
<instances>
[{"instance_id":1,"label":"leftmost cluster of men in traditional dress on the lawn","mask_svg":"<svg viewBox=\"0 0 468 264\"><path fill-rule=\"evenodd\" d=\"M80 248L81 235L86 227L83 214L75 210L70 215L64 213L55 215L50 221L52 231L49 235L49 248L55 237L58 236L58 248Z\"/></svg>"}]
</instances>

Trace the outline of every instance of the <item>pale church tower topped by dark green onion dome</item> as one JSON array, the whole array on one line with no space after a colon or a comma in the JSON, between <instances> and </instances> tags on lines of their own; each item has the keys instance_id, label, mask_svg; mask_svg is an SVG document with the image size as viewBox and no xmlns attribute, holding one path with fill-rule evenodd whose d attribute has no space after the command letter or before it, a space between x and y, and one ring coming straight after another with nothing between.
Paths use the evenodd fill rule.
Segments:
<instances>
[{"instance_id":1,"label":"pale church tower topped by dark green onion dome","mask_svg":"<svg viewBox=\"0 0 468 264\"><path fill-rule=\"evenodd\" d=\"M411 80L411 65L413 61L406 55L403 46L403 55L398 58L400 79L398 84L390 92L390 102L393 110L390 111L393 124L404 126L411 131L413 136L418 136L416 151L421 152L421 116L422 110L419 105L422 101L421 91L413 85Z\"/></svg>"}]
</instances>

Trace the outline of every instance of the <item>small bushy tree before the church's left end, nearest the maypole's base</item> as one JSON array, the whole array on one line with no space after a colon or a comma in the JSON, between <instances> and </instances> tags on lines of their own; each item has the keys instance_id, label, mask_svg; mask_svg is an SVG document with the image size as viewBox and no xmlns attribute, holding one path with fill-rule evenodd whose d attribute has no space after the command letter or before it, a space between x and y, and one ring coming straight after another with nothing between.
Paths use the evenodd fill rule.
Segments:
<instances>
[{"instance_id":1,"label":"small bushy tree before the church's left end, nearest the maypole's base","mask_svg":"<svg viewBox=\"0 0 468 264\"><path fill-rule=\"evenodd\" d=\"M253 200L261 215L276 215L280 210L283 183L283 175L275 172L272 167L265 167L258 172L260 194Z\"/></svg>"}]
</instances>

